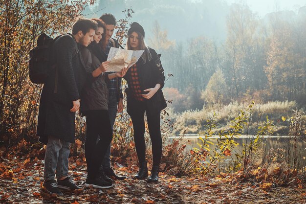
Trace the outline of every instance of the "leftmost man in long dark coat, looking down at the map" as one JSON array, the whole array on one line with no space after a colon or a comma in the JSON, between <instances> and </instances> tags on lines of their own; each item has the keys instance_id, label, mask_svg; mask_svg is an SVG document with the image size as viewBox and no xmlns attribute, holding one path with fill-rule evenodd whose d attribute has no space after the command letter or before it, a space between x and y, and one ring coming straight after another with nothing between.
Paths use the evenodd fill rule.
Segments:
<instances>
[{"instance_id":1,"label":"leftmost man in long dark coat, looking down at the map","mask_svg":"<svg viewBox=\"0 0 306 204\"><path fill-rule=\"evenodd\" d=\"M37 126L39 141L46 144L43 186L51 194L63 195L59 188L80 188L68 176L70 144L75 140L75 112L79 110L85 82L79 45L89 45L96 29L95 21L78 18L72 34L60 36L53 44L56 68L44 84Z\"/></svg>"}]
</instances>

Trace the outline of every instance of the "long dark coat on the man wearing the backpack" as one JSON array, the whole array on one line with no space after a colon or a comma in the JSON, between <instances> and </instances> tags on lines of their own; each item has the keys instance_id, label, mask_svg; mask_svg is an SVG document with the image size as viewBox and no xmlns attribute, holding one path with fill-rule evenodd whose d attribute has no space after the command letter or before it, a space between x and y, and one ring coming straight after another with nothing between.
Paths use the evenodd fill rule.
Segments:
<instances>
[{"instance_id":1,"label":"long dark coat on the man wearing the backpack","mask_svg":"<svg viewBox=\"0 0 306 204\"><path fill-rule=\"evenodd\" d=\"M79 93L85 83L84 64L78 44L71 34L57 39L53 48L56 68L51 71L42 91L37 136L44 144L48 142L48 136L74 143L75 113L71 113L70 109L73 107L72 101L80 98Z\"/></svg>"}]
</instances>

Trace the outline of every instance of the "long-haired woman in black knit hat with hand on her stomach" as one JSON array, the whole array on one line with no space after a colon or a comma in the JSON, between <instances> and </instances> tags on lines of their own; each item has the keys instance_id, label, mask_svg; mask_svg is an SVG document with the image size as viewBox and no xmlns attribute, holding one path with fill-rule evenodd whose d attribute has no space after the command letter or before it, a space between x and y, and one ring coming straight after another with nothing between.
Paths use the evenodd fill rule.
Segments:
<instances>
[{"instance_id":1,"label":"long-haired woman in black knit hat with hand on her stomach","mask_svg":"<svg viewBox=\"0 0 306 204\"><path fill-rule=\"evenodd\" d=\"M167 107L161 89L164 87L164 69L154 49L145 45L145 31L139 23L132 23L128 31L127 49L144 50L144 53L127 71L127 112L134 129L135 148L139 160L139 171L135 179L148 177L145 143L145 113L152 141L153 167L148 182L158 181L159 163L162 156L160 133L160 111Z\"/></svg>"}]
</instances>

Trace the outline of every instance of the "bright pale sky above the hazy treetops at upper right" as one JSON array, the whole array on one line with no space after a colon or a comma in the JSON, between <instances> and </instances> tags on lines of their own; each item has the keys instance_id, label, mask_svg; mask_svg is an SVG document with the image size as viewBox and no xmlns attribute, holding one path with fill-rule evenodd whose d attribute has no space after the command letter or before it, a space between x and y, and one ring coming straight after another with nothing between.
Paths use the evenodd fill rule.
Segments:
<instances>
[{"instance_id":1,"label":"bright pale sky above the hazy treetops at upper right","mask_svg":"<svg viewBox=\"0 0 306 204\"><path fill-rule=\"evenodd\" d=\"M267 13L278 10L293 10L306 6L306 0L224 0L228 4L245 2L250 6L250 9L257 12L263 17Z\"/></svg>"}]
</instances>

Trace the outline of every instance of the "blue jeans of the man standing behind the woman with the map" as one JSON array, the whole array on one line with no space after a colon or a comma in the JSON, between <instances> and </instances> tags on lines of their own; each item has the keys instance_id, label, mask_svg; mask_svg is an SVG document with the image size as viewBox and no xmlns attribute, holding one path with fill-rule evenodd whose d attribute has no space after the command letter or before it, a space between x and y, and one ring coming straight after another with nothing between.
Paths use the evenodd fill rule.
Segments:
<instances>
[{"instance_id":1,"label":"blue jeans of the man standing behind the woman with the map","mask_svg":"<svg viewBox=\"0 0 306 204\"><path fill-rule=\"evenodd\" d=\"M109 95L108 106L109 106L109 121L110 121L111 130L113 131L113 126L116 120L117 107L118 107L116 94ZM110 147L111 144L109 145L102 162L103 169L110 168Z\"/></svg>"}]
</instances>

